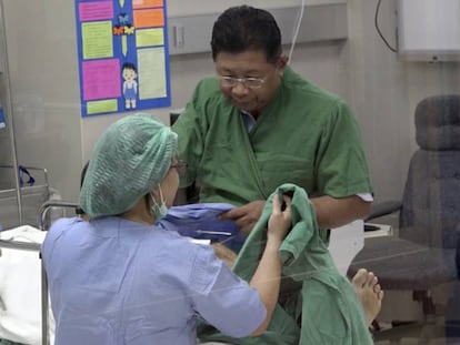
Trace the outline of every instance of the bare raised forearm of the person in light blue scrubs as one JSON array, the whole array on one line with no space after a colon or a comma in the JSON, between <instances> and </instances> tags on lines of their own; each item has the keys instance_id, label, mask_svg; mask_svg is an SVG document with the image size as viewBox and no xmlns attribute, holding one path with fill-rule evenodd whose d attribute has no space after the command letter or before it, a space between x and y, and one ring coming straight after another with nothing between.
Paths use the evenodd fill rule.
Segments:
<instances>
[{"instance_id":1,"label":"bare raised forearm of the person in light blue scrubs","mask_svg":"<svg viewBox=\"0 0 460 345\"><path fill-rule=\"evenodd\" d=\"M256 274L249 283L251 287L258 290L260 298L267 308L266 319L251 336L260 335L267 329L277 305L281 280L281 261L278 255L280 245L280 240L269 237Z\"/></svg>"}]
</instances>

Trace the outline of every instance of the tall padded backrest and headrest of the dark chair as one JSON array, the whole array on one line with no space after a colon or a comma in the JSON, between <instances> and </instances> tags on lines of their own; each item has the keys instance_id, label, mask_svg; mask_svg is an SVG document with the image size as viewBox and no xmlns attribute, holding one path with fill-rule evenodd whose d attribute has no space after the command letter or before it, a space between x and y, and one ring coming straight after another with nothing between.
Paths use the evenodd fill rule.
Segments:
<instances>
[{"instance_id":1,"label":"tall padded backrest and headrest of the dark chair","mask_svg":"<svg viewBox=\"0 0 460 345\"><path fill-rule=\"evenodd\" d=\"M402 196L400 236L456 248L460 223L460 94L422 100L417 143Z\"/></svg>"}]
</instances>

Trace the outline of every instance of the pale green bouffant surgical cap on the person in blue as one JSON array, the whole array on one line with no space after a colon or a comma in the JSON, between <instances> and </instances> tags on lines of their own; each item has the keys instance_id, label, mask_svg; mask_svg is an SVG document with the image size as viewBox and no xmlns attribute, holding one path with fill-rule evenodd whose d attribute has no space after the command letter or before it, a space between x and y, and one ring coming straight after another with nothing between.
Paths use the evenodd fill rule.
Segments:
<instances>
[{"instance_id":1,"label":"pale green bouffant surgical cap on the person in blue","mask_svg":"<svg viewBox=\"0 0 460 345\"><path fill-rule=\"evenodd\" d=\"M112 123L92 152L80 191L81 209L93 217L132 209L166 177L177 148L177 134L149 114Z\"/></svg>"}]
</instances>

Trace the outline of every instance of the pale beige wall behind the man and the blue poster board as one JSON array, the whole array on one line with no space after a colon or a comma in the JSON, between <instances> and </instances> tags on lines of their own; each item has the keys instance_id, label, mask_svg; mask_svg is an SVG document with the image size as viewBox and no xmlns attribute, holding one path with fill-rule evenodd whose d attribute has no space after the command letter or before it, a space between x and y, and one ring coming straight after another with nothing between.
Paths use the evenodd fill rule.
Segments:
<instances>
[{"instance_id":1,"label":"pale beige wall behind the man and the blue poster board","mask_svg":"<svg viewBox=\"0 0 460 345\"><path fill-rule=\"evenodd\" d=\"M3 1L19 160L47 168L51 184L62 197L74 200L80 169L96 140L109 123L126 113L80 118L73 1ZM350 103L363 133L376 199L397 197L416 149L414 106L429 94L460 92L459 64L399 61L373 28L377 1L347 2L349 39L343 43L299 44L291 65ZM274 7L279 2L271 3ZM171 0L170 14L191 14L191 7L194 11L201 8ZM381 29L391 42L394 42L394 0L382 1ZM182 108L196 82L213 72L209 53L171 57L170 68L171 109ZM169 109L149 112L168 123Z\"/></svg>"}]
</instances>

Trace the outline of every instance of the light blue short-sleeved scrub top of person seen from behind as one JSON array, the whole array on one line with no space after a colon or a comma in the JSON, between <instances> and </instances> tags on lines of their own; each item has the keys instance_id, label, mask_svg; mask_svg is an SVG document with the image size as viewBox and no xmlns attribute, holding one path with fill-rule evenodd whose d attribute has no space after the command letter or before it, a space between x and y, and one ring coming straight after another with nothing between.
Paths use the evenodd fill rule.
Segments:
<instances>
[{"instance_id":1,"label":"light blue short-sleeved scrub top of person seen from behind","mask_svg":"<svg viewBox=\"0 0 460 345\"><path fill-rule=\"evenodd\" d=\"M114 216L54 222L42 258L56 345L196 344L199 319L250 335L266 317L258 292L189 240Z\"/></svg>"}]
</instances>

